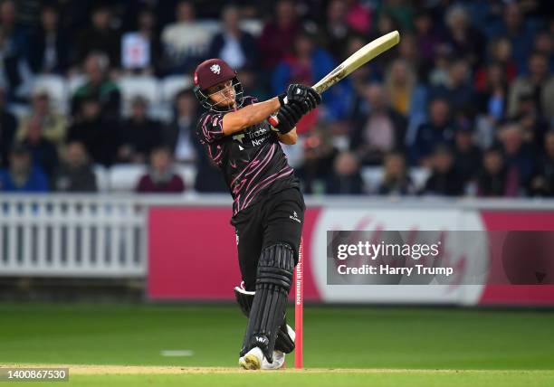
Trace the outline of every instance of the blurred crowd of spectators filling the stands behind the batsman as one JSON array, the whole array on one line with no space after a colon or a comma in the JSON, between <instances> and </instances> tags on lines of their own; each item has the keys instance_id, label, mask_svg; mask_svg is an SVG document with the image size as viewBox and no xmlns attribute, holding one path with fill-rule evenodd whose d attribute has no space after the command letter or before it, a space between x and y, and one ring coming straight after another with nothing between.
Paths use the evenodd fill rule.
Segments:
<instances>
[{"instance_id":1,"label":"blurred crowd of spectators filling the stands behind the batsman","mask_svg":"<svg viewBox=\"0 0 554 387\"><path fill-rule=\"evenodd\" d=\"M553 9L4 0L0 191L226 192L194 135L199 61L224 59L246 94L268 99L398 30L399 45L326 92L285 146L304 192L554 196Z\"/></svg>"}]
</instances>

